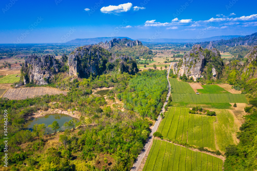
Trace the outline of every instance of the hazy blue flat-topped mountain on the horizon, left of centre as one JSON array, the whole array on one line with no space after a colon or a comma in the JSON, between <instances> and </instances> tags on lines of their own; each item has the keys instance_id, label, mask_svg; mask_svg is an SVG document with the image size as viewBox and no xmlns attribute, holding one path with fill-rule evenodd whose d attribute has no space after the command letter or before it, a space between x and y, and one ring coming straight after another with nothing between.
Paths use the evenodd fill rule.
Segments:
<instances>
[{"instance_id":1,"label":"hazy blue flat-topped mountain on the horizon, left of centre","mask_svg":"<svg viewBox=\"0 0 257 171\"><path fill-rule=\"evenodd\" d=\"M109 42L109 41L113 40L114 38L130 39L128 37L96 37L96 38L89 38L89 39L74 39L74 40L68 41L64 44L89 45L89 44L97 44L99 42L106 42L106 41ZM130 39L130 40L133 40L133 39Z\"/></svg>"}]
</instances>

